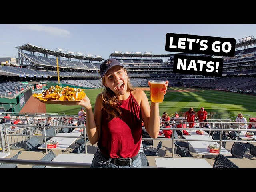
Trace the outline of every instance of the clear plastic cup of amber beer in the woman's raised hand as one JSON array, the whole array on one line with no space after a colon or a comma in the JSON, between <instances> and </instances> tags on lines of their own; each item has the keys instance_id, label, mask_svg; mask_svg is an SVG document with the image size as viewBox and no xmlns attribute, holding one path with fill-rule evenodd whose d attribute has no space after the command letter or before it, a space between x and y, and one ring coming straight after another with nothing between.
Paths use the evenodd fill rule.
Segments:
<instances>
[{"instance_id":1,"label":"clear plastic cup of amber beer in the woman's raised hand","mask_svg":"<svg viewBox=\"0 0 256 192\"><path fill-rule=\"evenodd\" d=\"M166 81L150 81L150 100L153 103L162 103L164 101L164 84Z\"/></svg>"}]
</instances>

